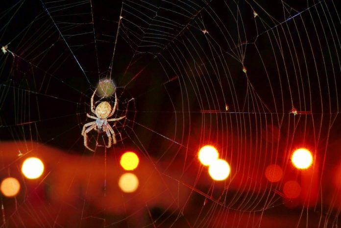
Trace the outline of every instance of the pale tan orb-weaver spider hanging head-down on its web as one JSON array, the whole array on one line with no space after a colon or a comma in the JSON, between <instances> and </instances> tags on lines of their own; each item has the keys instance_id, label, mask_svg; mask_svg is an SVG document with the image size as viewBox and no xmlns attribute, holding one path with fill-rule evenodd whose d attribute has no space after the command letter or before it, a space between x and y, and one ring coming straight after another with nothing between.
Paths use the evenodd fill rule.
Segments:
<instances>
[{"instance_id":1,"label":"pale tan orb-weaver spider hanging head-down on its web","mask_svg":"<svg viewBox=\"0 0 341 228\"><path fill-rule=\"evenodd\" d=\"M82 135L84 136L84 146L89 149L90 151L94 151L91 148L89 148L88 146L88 133L89 131L91 131L92 129L95 130L99 130L100 132L104 131L106 132L109 142L108 145L106 146L107 148L111 147L111 136L113 138L114 144L116 144L116 137L115 137L115 132L113 130L113 128L109 125L108 122L111 121L119 121L122 120L123 118L125 118L125 116L122 116L120 118L112 118L112 119L108 119L109 117L111 117L112 115L114 115L114 112L117 109L117 95L115 92L115 104L114 107L112 108L110 103L107 101L102 101L100 102L96 109L94 109L94 97L95 97L95 93L96 93L97 89L95 89L94 94L91 97L91 111L96 114L95 116L91 116L88 113L86 114L87 117L91 118L91 119L95 119L96 121L93 122L89 122L87 124L85 124L83 126L83 130L82 130ZM90 127L89 127L90 126ZM86 129L86 127L89 127Z\"/></svg>"}]
</instances>

